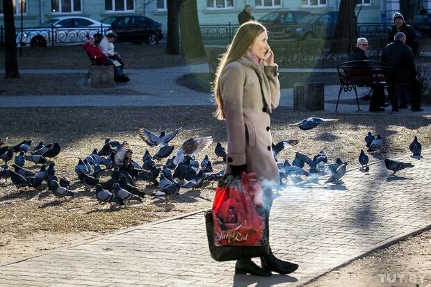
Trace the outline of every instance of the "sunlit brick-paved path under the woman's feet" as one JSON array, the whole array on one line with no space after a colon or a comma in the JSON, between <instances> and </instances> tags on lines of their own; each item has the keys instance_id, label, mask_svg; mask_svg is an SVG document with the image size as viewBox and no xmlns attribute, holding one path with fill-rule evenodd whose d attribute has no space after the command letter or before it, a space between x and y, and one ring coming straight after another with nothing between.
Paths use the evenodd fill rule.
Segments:
<instances>
[{"instance_id":1,"label":"sunlit brick-paved path under the woman's feet","mask_svg":"<svg viewBox=\"0 0 431 287\"><path fill-rule=\"evenodd\" d=\"M355 167L343 184L288 187L270 218L277 256L300 264L291 276L234 275L211 259L202 212L145 224L0 266L0 286L298 286L431 224L431 149L391 177L382 161ZM351 163L355 166L355 163ZM181 195L179 195L181 196Z\"/></svg>"}]
</instances>

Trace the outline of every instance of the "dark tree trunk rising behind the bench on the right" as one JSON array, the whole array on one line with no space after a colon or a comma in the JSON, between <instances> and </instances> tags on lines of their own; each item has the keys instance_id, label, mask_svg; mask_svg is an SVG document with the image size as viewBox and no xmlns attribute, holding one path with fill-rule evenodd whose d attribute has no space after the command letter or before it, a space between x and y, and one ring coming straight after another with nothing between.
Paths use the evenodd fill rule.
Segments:
<instances>
[{"instance_id":1,"label":"dark tree trunk rising behind the bench on the right","mask_svg":"<svg viewBox=\"0 0 431 287\"><path fill-rule=\"evenodd\" d=\"M331 52L348 52L357 40L356 0L341 0Z\"/></svg>"}]
</instances>

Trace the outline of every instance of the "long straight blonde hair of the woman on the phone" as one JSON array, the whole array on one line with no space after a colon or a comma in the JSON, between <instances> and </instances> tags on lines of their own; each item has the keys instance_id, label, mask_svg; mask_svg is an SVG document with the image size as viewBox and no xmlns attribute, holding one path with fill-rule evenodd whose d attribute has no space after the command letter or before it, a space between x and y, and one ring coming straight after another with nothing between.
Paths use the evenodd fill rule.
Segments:
<instances>
[{"instance_id":1,"label":"long straight blonde hair of the woman on the phone","mask_svg":"<svg viewBox=\"0 0 431 287\"><path fill-rule=\"evenodd\" d=\"M217 103L217 110L213 113L214 117L218 120L225 120L225 113L223 113L223 101L222 95L220 95L220 74L222 74L223 69L229 63L234 60L238 60L245 54L247 49L253 44L254 40L261 33L266 31L266 28L256 21L245 22L242 24L238 31L236 31L234 35L234 40L232 40L231 44L227 48L225 54L223 54L220 59L220 63L218 64L217 69L215 70L215 80L214 80L214 95L215 102Z\"/></svg>"}]
</instances>

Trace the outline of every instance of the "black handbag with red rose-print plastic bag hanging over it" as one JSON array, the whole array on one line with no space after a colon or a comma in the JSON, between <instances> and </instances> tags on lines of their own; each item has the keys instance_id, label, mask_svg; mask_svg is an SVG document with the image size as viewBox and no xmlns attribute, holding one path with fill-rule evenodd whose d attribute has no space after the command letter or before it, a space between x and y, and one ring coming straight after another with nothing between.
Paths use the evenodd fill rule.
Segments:
<instances>
[{"instance_id":1,"label":"black handbag with red rose-print plastic bag hanging over it","mask_svg":"<svg viewBox=\"0 0 431 287\"><path fill-rule=\"evenodd\" d=\"M262 206L263 193L255 173L242 172L241 179L232 175L220 179L213 209L205 212L211 258L231 261L269 254L268 213Z\"/></svg>"}]
</instances>

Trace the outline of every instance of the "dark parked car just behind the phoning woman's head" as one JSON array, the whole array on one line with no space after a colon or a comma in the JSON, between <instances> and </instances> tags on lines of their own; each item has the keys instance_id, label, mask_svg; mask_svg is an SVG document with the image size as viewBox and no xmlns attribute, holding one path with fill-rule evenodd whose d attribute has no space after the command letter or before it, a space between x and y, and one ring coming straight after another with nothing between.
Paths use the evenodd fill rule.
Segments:
<instances>
[{"instance_id":1,"label":"dark parked car just behind the phoning woman's head","mask_svg":"<svg viewBox=\"0 0 431 287\"><path fill-rule=\"evenodd\" d=\"M271 39L284 39L295 35L295 24L310 14L307 11L278 10L263 15L257 21L266 26Z\"/></svg>"}]
</instances>

